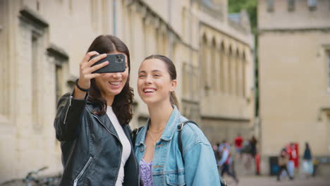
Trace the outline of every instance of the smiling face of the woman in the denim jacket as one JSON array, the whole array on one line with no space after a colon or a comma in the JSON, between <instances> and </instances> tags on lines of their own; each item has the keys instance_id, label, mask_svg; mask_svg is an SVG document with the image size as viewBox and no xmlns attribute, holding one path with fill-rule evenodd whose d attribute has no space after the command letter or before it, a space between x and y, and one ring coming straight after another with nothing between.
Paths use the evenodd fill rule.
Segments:
<instances>
[{"instance_id":1,"label":"smiling face of the woman in the denim jacket","mask_svg":"<svg viewBox=\"0 0 330 186\"><path fill-rule=\"evenodd\" d=\"M170 100L170 92L176 88L164 61L150 58L141 63L138 74L138 93L145 104Z\"/></svg>"}]
</instances>

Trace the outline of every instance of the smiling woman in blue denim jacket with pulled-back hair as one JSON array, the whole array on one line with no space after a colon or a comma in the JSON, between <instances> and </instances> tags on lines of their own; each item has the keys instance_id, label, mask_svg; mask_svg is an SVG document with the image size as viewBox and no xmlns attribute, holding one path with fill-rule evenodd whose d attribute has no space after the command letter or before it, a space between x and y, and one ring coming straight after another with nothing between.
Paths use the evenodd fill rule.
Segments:
<instances>
[{"instance_id":1,"label":"smiling woman in blue denim jacket with pulled-back hair","mask_svg":"<svg viewBox=\"0 0 330 186\"><path fill-rule=\"evenodd\" d=\"M220 185L211 144L178 111L176 84L176 67L166 56L152 55L141 63L138 93L150 118L133 140L140 185Z\"/></svg>"}]
</instances>

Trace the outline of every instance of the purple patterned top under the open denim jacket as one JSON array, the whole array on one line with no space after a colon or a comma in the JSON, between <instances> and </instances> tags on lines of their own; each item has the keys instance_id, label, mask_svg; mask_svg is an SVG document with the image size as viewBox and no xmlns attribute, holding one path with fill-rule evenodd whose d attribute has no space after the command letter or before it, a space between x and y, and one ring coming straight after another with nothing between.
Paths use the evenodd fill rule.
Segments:
<instances>
[{"instance_id":1,"label":"purple patterned top under the open denim jacket","mask_svg":"<svg viewBox=\"0 0 330 186\"><path fill-rule=\"evenodd\" d=\"M144 159L140 161L140 185L152 186L152 161L146 163Z\"/></svg>"}]
</instances>

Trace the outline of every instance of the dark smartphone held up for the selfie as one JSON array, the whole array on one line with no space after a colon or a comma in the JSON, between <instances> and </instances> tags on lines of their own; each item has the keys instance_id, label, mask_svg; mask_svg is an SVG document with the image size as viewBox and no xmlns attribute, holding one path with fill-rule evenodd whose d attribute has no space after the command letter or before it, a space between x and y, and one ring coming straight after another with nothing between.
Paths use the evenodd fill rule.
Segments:
<instances>
[{"instance_id":1,"label":"dark smartphone held up for the selfie","mask_svg":"<svg viewBox=\"0 0 330 186\"><path fill-rule=\"evenodd\" d=\"M90 60L99 55L94 55L90 57ZM89 60L89 61L90 61ZM126 69L126 58L123 54L108 54L105 58L94 63L92 66L96 66L105 61L109 61L107 66L100 68L99 70L95 70L92 73L122 73Z\"/></svg>"}]
</instances>

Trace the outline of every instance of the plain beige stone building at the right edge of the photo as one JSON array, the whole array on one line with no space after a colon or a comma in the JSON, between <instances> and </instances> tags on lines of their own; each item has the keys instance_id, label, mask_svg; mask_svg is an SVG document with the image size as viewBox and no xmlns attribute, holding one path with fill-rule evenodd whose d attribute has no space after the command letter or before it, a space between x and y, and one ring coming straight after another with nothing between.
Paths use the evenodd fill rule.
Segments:
<instances>
[{"instance_id":1,"label":"plain beige stone building at the right edge of the photo","mask_svg":"<svg viewBox=\"0 0 330 186\"><path fill-rule=\"evenodd\" d=\"M289 142L330 156L330 1L259 1L262 172ZM328 172L329 175L329 172Z\"/></svg>"}]
</instances>

